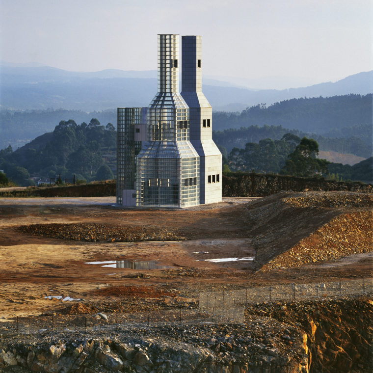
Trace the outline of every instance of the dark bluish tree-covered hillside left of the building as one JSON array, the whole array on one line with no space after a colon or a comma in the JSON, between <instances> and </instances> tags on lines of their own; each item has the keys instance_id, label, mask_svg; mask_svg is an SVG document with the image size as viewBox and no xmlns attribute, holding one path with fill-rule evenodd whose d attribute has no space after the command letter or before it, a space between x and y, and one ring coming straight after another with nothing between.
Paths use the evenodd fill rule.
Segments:
<instances>
[{"instance_id":1,"label":"dark bluish tree-covered hillside left of the building","mask_svg":"<svg viewBox=\"0 0 373 373\"><path fill-rule=\"evenodd\" d=\"M70 119L60 121L52 133L45 133L22 148L0 151L0 169L20 185L32 185L31 176L80 180L112 179L114 164L106 161L106 154L115 159L116 131L93 118L77 125ZM110 157L107 157L110 158ZM115 169L115 168L114 168Z\"/></svg>"}]
</instances>

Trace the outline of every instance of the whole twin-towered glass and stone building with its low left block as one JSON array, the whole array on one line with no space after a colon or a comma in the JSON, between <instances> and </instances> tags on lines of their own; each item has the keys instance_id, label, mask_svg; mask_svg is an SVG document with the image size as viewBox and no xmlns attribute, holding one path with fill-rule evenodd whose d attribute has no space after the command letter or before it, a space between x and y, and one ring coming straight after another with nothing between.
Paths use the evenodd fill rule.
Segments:
<instances>
[{"instance_id":1,"label":"whole twin-towered glass and stone building with its low left block","mask_svg":"<svg viewBox=\"0 0 373 373\"><path fill-rule=\"evenodd\" d=\"M221 201L221 154L202 93L201 37L158 35L158 92L149 107L117 109L117 203L179 207ZM194 64L194 68L193 68ZM184 83L185 81L185 83Z\"/></svg>"}]
</instances>

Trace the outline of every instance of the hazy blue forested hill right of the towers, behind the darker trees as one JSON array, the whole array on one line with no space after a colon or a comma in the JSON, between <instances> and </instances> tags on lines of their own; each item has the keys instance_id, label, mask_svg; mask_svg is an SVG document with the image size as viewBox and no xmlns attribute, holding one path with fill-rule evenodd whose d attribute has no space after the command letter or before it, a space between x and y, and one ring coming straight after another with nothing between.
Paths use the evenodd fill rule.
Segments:
<instances>
[{"instance_id":1,"label":"hazy blue forested hill right of the towers, behind the darker trees","mask_svg":"<svg viewBox=\"0 0 373 373\"><path fill-rule=\"evenodd\" d=\"M343 128L372 124L372 94L300 98L248 107L240 113L214 112L213 129L282 126L305 133L339 137Z\"/></svg>"}]
</instances>

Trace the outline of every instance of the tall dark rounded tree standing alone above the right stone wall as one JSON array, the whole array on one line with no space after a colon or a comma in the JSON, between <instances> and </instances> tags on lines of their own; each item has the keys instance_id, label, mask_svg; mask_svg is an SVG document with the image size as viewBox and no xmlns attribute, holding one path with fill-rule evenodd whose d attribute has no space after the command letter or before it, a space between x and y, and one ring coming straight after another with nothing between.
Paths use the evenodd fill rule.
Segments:
<instances>
[{"instance_id":1,"label":"tall dark rounded tree standing alone above the right stone wall","mask_svg":"<svg viewBox=\"0 0 373 373\"><path fill-rule=\"evenodd\" d=\"M281 173L303 177L326 174L329 162L316 158L318 155L319 144L317 141L313 138L303 137L293 153L289 154Z\"/></svg>"}]
</instances>

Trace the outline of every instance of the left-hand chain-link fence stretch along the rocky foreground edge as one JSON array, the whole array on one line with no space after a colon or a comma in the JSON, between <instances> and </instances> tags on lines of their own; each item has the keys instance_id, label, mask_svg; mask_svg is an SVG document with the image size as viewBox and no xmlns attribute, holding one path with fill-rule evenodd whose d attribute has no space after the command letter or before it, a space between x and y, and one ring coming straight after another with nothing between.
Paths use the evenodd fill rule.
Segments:
<instances>
[{"instance_id":1,"label":"left-hand chain-link fence stretch along the rocky foreground edge","mask_svg":"<svg viewBox=\"0 0 373 373\"><path fill-rule=\"evenodd\" d=\"M0 323L1 336L48 334L51 332L92 333L95 330L141 330L149 327L188 325L199 323L231 323L236 320L237 312L226 315L209 314L200 309L177 308L172 310L149 311L144 313L107 313L80 315L40 315L16 317ZM243 321L243 309L240 320Z\"/></svg>"}]
</instances>

